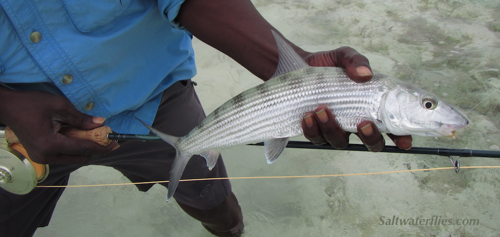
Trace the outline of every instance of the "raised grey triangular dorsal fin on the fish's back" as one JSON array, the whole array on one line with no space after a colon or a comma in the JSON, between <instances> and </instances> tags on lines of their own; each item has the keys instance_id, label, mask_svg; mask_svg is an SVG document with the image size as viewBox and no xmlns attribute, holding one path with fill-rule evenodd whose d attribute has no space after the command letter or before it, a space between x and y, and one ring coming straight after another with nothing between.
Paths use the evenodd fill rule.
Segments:
<instances>
[{"instance_id":1,"label":"raised grey triangular dorsal fin on the fish's back","mask_svg":"<svg viewBox=\"0 0 500 237\"><path fill-rule=\"evenodd\" d=\"M288 73L297 69L309 67L304 59L302 59L302 57L298 55L295 50L293 50L290 44L288 44L283 39L283 37L281 37L278 33L276 33L276 31L272 29L271 32L274 36L274 39L276 39L279 53L278 66L276 67L276 71L274 72L272 77L276 77L278 75Z\"/></svg>"}]
</instances>

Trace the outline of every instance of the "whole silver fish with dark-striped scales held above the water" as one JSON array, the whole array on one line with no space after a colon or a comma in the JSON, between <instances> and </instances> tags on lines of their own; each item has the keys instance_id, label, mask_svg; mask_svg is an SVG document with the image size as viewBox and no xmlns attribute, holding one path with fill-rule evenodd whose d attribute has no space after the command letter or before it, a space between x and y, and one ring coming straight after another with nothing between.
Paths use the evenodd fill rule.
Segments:
<instances>
[{"instance_id":1,"label":"whole silver fish with dark-striped scales held above the water","mask_svg":"<svg viewBox=\"0 0 500 237\"><path fill-rule=\"evenodd\" d=\"M289 137L302 134L304 113L320 105L330 108L340 126L350 132L356 132L362 120L371 120L380 132L450 136L468 123L451 105L399 79L374 73L370 81L357 83L343 68L309 66L273 34L279 49L273 78L234 96L185 136L171 136L144 124L177 150L167 200L192 155L205 157L211 169L221 148L264 141L271 163Z\"/></svg>"}]
</instances>

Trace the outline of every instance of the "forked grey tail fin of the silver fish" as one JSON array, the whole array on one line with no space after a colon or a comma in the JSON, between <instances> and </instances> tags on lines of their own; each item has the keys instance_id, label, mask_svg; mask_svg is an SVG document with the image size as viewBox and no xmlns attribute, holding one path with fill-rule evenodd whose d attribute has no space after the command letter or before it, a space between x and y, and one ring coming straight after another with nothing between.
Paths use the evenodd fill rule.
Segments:
<instances>
[{"instance_id":1,"label":"forked grey tail fin of the silver fish","mask_svg":"<svg viewBox=\"0 0 500 237\"><path fill-rule=\"evenodd\" d=\"M141 121L137 118L144 126L146 126L150 131L153 132L154 135L158 136L162 140L166 141L168 144L173 146L176 150L175 159L173 160L172 168L170 169L170 178L168 181L168 194L166 195L166 201L168 201L175 192L177 185L179 184L180 176L186 167L187 162L191 158L191 155L181 155L179 149L177 148L177 143L179 141L178 136L168 135L164 132L161 132L145 122Z\"/></svg>"}]
</instances>

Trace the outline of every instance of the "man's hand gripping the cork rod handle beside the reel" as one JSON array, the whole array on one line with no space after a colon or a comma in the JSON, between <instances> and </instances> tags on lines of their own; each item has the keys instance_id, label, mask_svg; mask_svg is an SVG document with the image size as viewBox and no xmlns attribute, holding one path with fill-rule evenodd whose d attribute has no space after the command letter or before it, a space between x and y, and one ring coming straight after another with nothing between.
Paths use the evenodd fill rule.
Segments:
<instances>
[{"instance_id":1,"label":"man's hand gripping the cork rod handle beside the reel","mask_svg":"<svg viewBox=\"0 0 500 237\"><path fill-rule=\"evenodd\" d=\"M118 147L115 141L101 146L59 133L62 125L89 130L102 126L105 120L81 113L64 97L0 86L0 99L0 122L12 129L37 163L88 163L91 155L105 154Z\"/></svg>"}]
</instances>

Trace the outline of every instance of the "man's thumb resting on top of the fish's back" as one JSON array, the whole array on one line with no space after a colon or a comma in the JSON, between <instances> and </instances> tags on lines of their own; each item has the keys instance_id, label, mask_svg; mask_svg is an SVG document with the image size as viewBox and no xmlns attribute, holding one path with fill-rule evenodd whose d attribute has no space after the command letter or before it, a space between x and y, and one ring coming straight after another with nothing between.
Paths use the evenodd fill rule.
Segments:
<instances>
[{"instance_id":1,"label":"man's thumb resting on top of the fish's back","mask_svg":"<svg viewBox=\"0 0 500 237\"><path fill-rule=\"evenodd\" d=\"M371 67L364 55L351 47L340 47L336 49L335 60L337 65L345 68L345 72L352 80L356 82L366 82L373 77Z\"/></svg>"}]
</instances>

